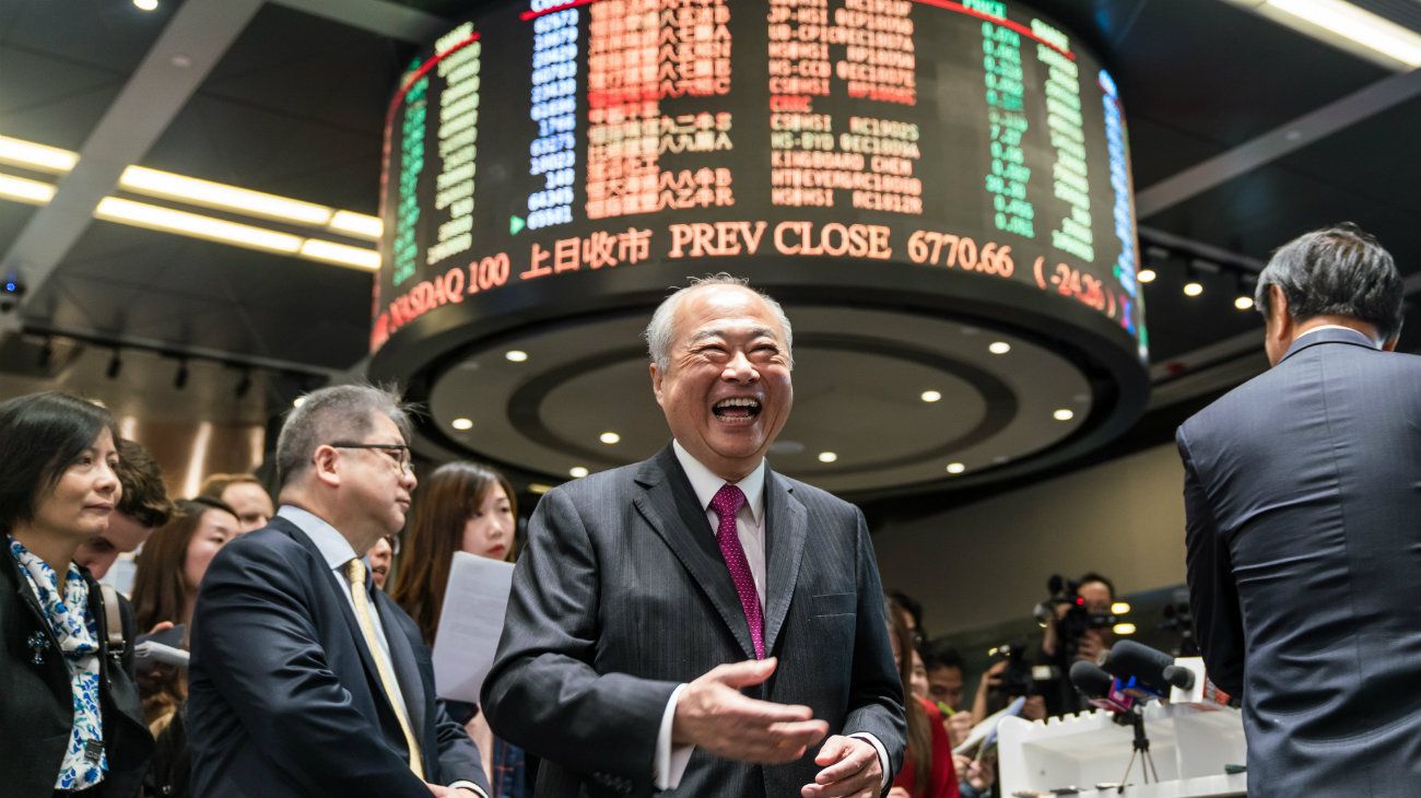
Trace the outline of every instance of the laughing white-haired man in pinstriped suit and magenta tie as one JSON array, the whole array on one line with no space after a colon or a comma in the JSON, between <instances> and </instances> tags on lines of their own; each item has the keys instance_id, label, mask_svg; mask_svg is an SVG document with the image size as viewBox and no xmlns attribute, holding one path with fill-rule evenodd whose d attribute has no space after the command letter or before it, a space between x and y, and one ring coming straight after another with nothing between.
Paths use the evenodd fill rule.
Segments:
<instances>
[{"instance_id":1,"label":"laughing white-haired man in pinstriped suit and magenta tie","mask_svg":"<svg viewBox=\"0 0 1421 798\"><path fill-rule=\"evenodd\" d=\"M539 503L490 726L543 757L539 798L878 795L904 717L868 528L764 461L793 400L789 321L716 275L647 337L674 442Z\"/></svg>"}]
</instances>

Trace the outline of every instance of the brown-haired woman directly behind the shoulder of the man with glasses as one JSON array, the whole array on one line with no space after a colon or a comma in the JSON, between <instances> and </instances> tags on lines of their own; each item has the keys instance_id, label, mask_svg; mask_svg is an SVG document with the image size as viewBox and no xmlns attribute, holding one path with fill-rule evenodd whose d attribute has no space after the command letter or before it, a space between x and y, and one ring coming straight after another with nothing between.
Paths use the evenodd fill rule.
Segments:
<instances>
[{"instance_id":1,"label":"brown-haired woman directly behind the shoulder of the man with glasses","mask_svg":"<svg viewBox=\"0 0 1421 798\"><path fill-rule=\"evenodd\" d=\"M139 629L156 629L192 621L198 586L207 564L229 540L242 534L237 514L216 498L200 496L175 503L172 520L159 527L134 571L134 618ZM188 697L188 679L182 672L161 669L152 679L141 680L144 714L156 737Z\"/></svg>"}]
</instances>

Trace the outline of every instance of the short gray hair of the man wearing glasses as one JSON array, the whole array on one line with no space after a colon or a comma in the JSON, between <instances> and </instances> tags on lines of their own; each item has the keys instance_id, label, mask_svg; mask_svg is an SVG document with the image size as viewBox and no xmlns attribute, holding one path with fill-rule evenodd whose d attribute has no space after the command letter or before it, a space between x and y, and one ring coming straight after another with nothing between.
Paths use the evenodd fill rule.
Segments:
<instances>
[{"instance_id":1,"label":"short gray hair of the man wearing glasses","mask_svg":"<svg viewBox=\"0 0 1421 798\"><path fill-rule=\"evenodd\" d=\"M395 422L409 442L409 408L399 392L374 385L334 385L306 395L276 439L276 477L286 487L311 467L315 449L337 440L360 442L374 429L374 416Z\"/></svg>"}]
</instances>

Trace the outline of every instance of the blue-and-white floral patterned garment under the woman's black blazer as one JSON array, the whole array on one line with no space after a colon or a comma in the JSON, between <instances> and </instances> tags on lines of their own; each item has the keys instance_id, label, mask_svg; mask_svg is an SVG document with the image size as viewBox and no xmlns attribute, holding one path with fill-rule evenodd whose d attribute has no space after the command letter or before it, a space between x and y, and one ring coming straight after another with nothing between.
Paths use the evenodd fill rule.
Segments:
<instances>
[{"instance_id":1,"label":"blue-and-white floral patterned garment under the woman's black blazer","mask_svg":"<svg viewBox=\"0 0 1421 798\"><path fill-rule=\"evenodd\" d=\"M20 545L20 541L9 540L10 551L28 578L36 598L40 599L54 639L60 642L64 663L70 670L70 687L74 692L74 730L70 733L70 747L64 754L64 764L54 788L88 789L102 781L104 772L108 771L104 716L99 710L98 629L88 613L88 582L71 562L61 596L58 574Z\"/></svg>"}]
</instances>

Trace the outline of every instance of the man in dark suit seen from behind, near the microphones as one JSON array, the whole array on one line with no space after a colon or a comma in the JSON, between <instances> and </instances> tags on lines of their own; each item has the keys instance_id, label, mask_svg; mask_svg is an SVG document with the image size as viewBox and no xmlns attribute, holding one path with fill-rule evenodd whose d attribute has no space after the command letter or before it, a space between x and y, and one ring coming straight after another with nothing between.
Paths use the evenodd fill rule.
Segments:
<instances>
[{"instance_id":1,"label":"man in dark suit seen from behind, near the microphones","mask_svg":"<svg viewBox=\"0 0 1421 798\"><path fill-rule=\"evenodd\" d=\"M1421 358L1351 224L1259 277L1273 368L1177 436L1209 677L1243 697L1249 795L1421 789Z\"/></svg>"}]
</instances>

